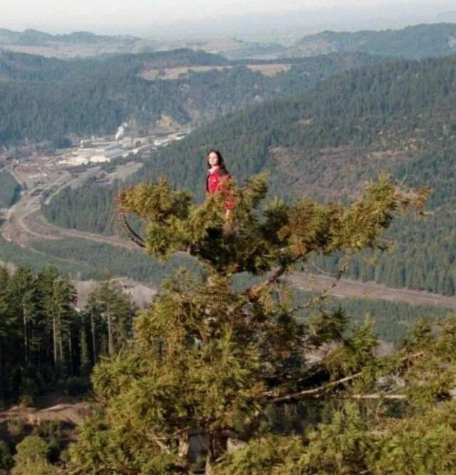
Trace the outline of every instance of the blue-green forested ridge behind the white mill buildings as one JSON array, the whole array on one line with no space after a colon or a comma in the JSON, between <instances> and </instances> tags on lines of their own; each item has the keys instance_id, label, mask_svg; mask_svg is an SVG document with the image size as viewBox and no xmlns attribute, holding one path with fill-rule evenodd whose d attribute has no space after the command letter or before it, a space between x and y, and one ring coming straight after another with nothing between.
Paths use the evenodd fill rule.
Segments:
<instances>
[{"instance_id":1,"label":"blue-green forested ridge behind the white mill buildings","mask_svg":"<svg viewBox=\"0 0 456 475\"><path fill-rule=\"evenodd\" d=\"M125 121L147 130L164 115L202 123L239 108L303 92L348 68L380 61L366 55L296 60L289 71L266 76L245 63L177 50L105 59L62 61L0 52L0 145L73 134L113 133ZM177 80L146 80L142 71L182 66L227 66L189 72Z\"/></svg>"}]
</instances>

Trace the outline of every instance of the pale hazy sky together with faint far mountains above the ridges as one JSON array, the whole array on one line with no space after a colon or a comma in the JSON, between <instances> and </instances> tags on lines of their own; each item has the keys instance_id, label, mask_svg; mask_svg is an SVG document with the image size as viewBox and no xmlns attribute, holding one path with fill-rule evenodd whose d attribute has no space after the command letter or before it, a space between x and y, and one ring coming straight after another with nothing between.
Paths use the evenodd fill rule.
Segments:
<instances>
[{"instance_id":1,"label":"pale hazy sky together with faint far mountains above the ridges","mask_svg":"<svg viewBox=\"0 0 456 475\"><path fill-rule=\"evenodd\" d=\"M127 4L81 0L66 1L64 7L48 0L14 4L4 0L2 25L23 30L34 28L50 33L94 31L103 35L125 35L175 41L182 38L238 38L247 42L283 43L289 46L306 35L325 30L360 31L403 28L408 25L455 21L450 0L269 0L209 2L194 0L156 2L136 0Z\"/></svg>"}]
</instances>

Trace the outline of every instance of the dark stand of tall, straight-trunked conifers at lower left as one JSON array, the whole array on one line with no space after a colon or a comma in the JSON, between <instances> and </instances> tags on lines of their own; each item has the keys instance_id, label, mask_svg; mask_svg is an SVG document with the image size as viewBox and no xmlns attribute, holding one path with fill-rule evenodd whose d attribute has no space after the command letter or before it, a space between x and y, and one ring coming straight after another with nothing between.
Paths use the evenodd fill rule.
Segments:
<instances>
[{"instance_id":1,"label":"dark stand of tall, straight-trunked conifers at lower left","mask_svg":"<svg viewBox=\"0 0 456 475\"><path fill-rule=\"evenodd\" d=\"M0 267L0 400L33 402L57 387L84 390L103 355L131 337L135 306L115 281L100 281L76 309L66 275Z\"/></svg>"}]
</instances>

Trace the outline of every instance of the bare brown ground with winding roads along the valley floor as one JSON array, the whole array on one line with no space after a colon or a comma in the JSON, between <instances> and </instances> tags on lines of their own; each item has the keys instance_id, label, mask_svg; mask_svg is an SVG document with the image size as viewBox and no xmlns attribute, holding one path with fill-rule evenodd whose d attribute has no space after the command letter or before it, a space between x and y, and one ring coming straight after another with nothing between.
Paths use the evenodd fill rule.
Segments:
<instances>
[{"instance_id":1,"label":"bare brown ground with winding roads along the valley floor","mask_svg":"<svg viewBox=\"0 0 456 475\"><path fill-rule=\"evenodd\" d=\"M126 165L123 167L123 178ZM14 172L14 168L11 172ZM132 169L133 172L133 169ZM118 236L95 234L78 229L66 229L55 224L51 224L41 214L41 203L48 202L54 195L58 194L64 187L73 189L81 187L87 179L100 177L109 181L110 177L118 174L118 167L112 172L103 172L100 167L93 167L82 172L74 173L61 169L56 174L45 174L41 172L37 180L36 174L26 174L24 170L14 172L16 179L26 187L22 192L19 202L9 208L4 224L1 226L0 235L6 241L14 242L25 249L36 251L34 244L36 241L54 241L64 238L76 238L93 241L95 243L108 244L115 248L138 250L137 246L128 239L121 236L121 229L118 228ZM52 191L51 191L52 190ZM51 193L50 193L51 192ZM42 251L38 251L42 252ZM46 254L45 254L46 255ZM64 258L57 258L66 261ZM77 261L74 261L77 263ZM127 278L128 276L118 276ZM336 277L326 276L323 273L293 273L286 278L292 287L300 291L322 292L336 298L361 298L367 300L385 300L392 302L408 303L415 306L436 306L456 310L456 298L440 296L437 293L427 293L423 291L413 291L409 289L388 288L383 284L354 281L347 278L336 279ZM140 283L133 283L130 286L140 286ZM152 296L152 294L151 294ZM143 301L142 301L143 303Z\"/></svg>"}]
</instances>

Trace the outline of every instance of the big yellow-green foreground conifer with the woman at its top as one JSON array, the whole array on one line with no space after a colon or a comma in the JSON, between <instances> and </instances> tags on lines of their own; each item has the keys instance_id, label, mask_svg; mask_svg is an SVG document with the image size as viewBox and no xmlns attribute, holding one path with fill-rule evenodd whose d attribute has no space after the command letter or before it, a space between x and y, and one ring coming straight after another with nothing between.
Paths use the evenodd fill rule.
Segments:
<instances>
[{"instance_id":1,"label":"big yellow-green foreground conifer with the woman at its top","mask_svg":"<svg viewBox=\"0 0 456 475\"><path fill-rule=\"evenodd\" d=\"M71 448L71 473L182 473L202 455L207 473L273 473L275 464L288 464L289 454L305 447L301 439L280 437L265 442L262 452L260 427L268 410L302 399L325 400L341 390L355 400L383 400L375 387L378 375L413 359L379 362L371 323L348 334L340 310L299 323L298 308L280 279L313 254L383 247L380 234L393 216L420 207L424 194L403 192L387 177L369 184L349 207L310 199L288 204L274 199L262 207L266 192L266 177L259 175L202 204L192 204L190 194L173 191L164 180L120 195L121 216L134 213L145 221L142 239L124 220L135 242L160 259L187 251L204 272L198 277L182 270L169 278L135 319L130 348L95 367L95 395L104 409L83 424ZM229 234L227 197L235 202ZM239 273L252 274L254 283L234 286ZM309 355L323 348L326 356L311 364ZM353 473L355 466L362 471L367 463L356 458L364 438L357 442L352 434L363 430L365 421L358 422L355 409L346 410L353 423L347 422L351 432L339 442L348 446L341 453L349 461L338 473ZM328 425L328 443L345 427L334 424L342 422ZM274 447L279 453L255 462L249 449L242 450L236 465L226 458L227 443L240 438L260 451L257 459ZM318 443L316 453L323 458L325 446ZM329 470L342 463L335 454L326 471L302 473L337 473Z\"/></svg>"}]
</instances>

